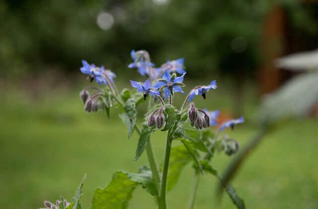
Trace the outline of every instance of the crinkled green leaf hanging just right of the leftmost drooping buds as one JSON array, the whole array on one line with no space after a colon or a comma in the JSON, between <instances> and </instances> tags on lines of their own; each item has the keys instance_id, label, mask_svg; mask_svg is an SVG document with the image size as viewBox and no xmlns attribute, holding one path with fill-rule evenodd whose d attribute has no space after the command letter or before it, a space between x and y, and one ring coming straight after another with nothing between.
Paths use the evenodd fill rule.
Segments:
<instances>
[{"instance_id":1,"label":"crinkled green leaf hanging just right of the leftmost drooping buds","mask_svg":"<svg viewBox=\"0 0 318 209\"><path fill-rule=\"evenodd\" d=\"M133 133L136 124L136 105L133 99L129 99L124 106L125 113L119 114L119 117L127 125L128 128L128 139Z\"/></svg>"}]
</instances>

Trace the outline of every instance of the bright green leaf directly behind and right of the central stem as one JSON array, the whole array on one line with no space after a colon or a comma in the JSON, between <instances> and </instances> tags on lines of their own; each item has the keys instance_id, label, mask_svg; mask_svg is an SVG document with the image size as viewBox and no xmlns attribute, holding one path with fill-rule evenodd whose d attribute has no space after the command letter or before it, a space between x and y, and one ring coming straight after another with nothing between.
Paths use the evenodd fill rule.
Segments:
<instances>
[{"instance_id":1,"label":"bright green leaf directly behind and right of the central stem","mask_svg":"<svg viewBox=\"0 0 318 209\"><path fill-rule=\"evenodd\" d=\"M192 160L191 155L184 146L171 148L168 169L167 190L170 191L179 180L182 169Z\"/></svg>"}]
</instances>

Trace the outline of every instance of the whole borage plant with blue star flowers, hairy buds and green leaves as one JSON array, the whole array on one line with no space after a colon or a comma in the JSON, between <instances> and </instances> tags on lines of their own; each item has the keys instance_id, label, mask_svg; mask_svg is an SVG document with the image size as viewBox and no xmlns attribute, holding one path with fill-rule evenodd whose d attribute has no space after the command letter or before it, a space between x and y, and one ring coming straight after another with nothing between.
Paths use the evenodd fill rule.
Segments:
<instances>
[{"instance_id":1,"label":"whole borage plant with blue star flowers, hairy buds and green leaves","mask_svg":"<svg viewBox=\"0 0 318 209\"><path fill-rule=\"evenodd\" d=\"M200 175L203 172L212 174L222 182L222 177L211 166L210 161L216 152L224 151L227 155L235 154L238 142L227 135L221 136L226 127L232 129L238 123L243 122L243 117L227 121L214 133L210 126L216 126L220 111L208 111L199 109L194 103L190 103L196 95L206 98L207 92L216 89L216 81L207 86L197 86L186 96L180 108L172 105L175 93L185 94L183 80L186 74L183 66L183 58L168 61L155 68L147 51L140 50L131 52L134 60L128 67L137 68L138 72L147 76L146 81L130 81L133 90L124 89L118 92L114 83L116 75L104 67L89 65L82 61L81 72L88 74L90 82L95 80L103 88L86 87L80 98L84 103L86 112L104 110L109 117L112 106L122 110L119 117L128 127L128 138L135 130L139 135L139 141L134 161L137 161L146 150L149 167L143 166L138 173L117 171L113 174L111 182L104 189L97 189L92 199L92 209L126 209L132 193L138 185L141 185L148 193L155 196L159 209L166 209L166 192L170 191L177 183L182 168L193 162L194 181L193 189L189 196L188 208L194 207L196 190ZM180 76L177 76L179 74ZM151 96L153 97L151 97ZM148 100L148 113L145 114L145 122L141 125L136 123L136 106ZM159 167L154 155L151 135L155 131L166 131L166 146L162 167ZM178 146L172 146L172 142L180 142ZM81 184L82 186L82 184ZM236 191L229 185L224 185L226 192L239 208L244 208L243 201L237 196ZM64 208L81 208L79 193L73 203L65 201ZM77 198L78 197L78 198ZM64 201L64 200L62 200ZM61 208L60 202L58 202ZM49 202L45 202L48 208L59 208ZM76 206L75 206L76 204ZM52 207L53 206L53 207Z\"/></svg>"}]
</instances>

